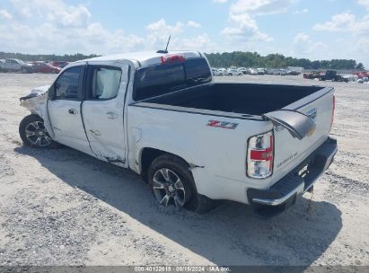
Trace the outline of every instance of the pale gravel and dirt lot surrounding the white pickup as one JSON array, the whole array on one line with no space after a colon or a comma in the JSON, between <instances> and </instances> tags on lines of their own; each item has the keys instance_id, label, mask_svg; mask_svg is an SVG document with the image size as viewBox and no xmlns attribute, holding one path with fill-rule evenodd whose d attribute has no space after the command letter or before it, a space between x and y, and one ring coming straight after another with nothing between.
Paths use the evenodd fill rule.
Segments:
<instances>
[{"instance_id":1,"label":"pale gravel and dirt lot surrounding the white pickup","mask_svg":"<svg viewBox=\"0 0 369 273\"><path fill-rule=\"evenodd\" d=\"M73 149L23 147L18 98L55 75L0 74L0 265L369 265L369 84L223 77L337 88L336 162L270 220L226 203L158 206L134 173Z\"/></svg>"}]
</instances>

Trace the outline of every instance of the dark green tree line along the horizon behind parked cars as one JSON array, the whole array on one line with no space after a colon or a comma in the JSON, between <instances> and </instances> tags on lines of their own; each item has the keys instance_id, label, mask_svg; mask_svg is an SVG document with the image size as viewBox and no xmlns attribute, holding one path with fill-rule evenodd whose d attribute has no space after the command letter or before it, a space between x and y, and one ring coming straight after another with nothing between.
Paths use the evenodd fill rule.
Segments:
<instances>
[{"instance_id":1,"label":"dark green tree line along the horizon behind parked cars","mask_svg":"<svg viewBox=\"0 0 369 273\"><path fill-rule=\"evenodd\" d=\"M68 61L75 62L89 57L98 57L98 55L83 55L77 53L74 55L31 55L22 53L0 52L0 59L18 58L23 61ZM257 52L224 52L206 54L209 63L213 67L273 67L285 68L287 66L301 66L305 69L345 69L345 70L364 70L362 63L356 63L353 59L331 59L314 60L307 58L285 57L281 54L269 54L261 56Z\"/></svg>"}]
</instances>

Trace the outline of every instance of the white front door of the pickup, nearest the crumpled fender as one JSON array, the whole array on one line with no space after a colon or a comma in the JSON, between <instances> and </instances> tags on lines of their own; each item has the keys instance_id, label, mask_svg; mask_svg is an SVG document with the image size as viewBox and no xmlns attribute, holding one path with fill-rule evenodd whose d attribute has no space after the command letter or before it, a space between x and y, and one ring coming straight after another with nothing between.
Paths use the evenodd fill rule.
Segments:
<instances>
[{"instance_id":1,"label":"white front door of the pickup, nearest the crumpled fender","mask_svg":"<svg viewBox=\"0 0 369 273\"><path fill-rule=\"evenodd\" d=\"M48 118L57 142L91 154L81 116L84 68L72 66L57 77L49 90Z\"/></svg>"}]
</instances>

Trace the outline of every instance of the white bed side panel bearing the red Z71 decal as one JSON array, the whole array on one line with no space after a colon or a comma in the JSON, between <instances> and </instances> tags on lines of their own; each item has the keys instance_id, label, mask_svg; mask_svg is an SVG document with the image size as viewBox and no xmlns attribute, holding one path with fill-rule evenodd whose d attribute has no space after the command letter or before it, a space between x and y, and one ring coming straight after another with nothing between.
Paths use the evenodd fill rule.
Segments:
<instances>
[{"instance_id":1,"label":"white bed side panel bearing the red Z71 decal","mask_svg":"<svg viewBox=\"0 0 369 273\"><path fill-rule=\"evenodd\" d=\"M128 106L129 166L140 170L141 153L152 147L182 157L199 166L192 169L198 192L209 198L247 202L246 189L267 187L268 181L247 178L247 140L273 128L271 122L220 118L172 110ZM209 120L236 123L237 127L215 128Z\"/></svg>"}]
</instances>

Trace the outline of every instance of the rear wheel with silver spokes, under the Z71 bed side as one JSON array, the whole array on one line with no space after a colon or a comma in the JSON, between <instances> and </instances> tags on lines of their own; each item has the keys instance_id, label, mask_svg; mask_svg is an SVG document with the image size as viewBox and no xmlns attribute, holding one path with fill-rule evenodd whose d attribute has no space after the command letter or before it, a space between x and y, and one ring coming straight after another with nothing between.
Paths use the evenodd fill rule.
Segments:
<instances>
[{"instance_id":1,"label":"rear wheel with silver spokes, under the Z71 bed side","mask_svg":"<svg viewBox=\"0 0 369 273\"><path fill-rule=\"evenodd\" d=\"M156 200L165 207L184 207L200 214L214 207L213 200L198 194L189 164L173 154L163 154L154 160L147 181Z\"/></svg>"}]
</instances>

